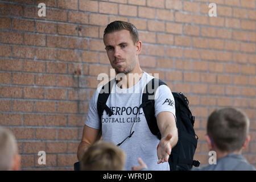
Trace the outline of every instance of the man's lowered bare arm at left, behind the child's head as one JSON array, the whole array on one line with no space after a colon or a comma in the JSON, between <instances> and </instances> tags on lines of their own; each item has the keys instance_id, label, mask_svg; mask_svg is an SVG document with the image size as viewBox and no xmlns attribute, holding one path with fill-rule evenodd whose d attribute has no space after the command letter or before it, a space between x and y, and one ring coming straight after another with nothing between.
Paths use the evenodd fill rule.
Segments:
<instances>
[{"instance_id":1,"label":"man's lowered bare arm at left, behind the child's head","mask_svg":"<svg viewBox=\"0 0 256 182\"><path fill-rule=\"evenodd\" d=\"M82 159L82 155L84 154L86 148L100 139L99 135L100 130L84 125L84 130L82 131L82 140L77 148L77 159L79 161Z\"/></svg>"}]
</instances>

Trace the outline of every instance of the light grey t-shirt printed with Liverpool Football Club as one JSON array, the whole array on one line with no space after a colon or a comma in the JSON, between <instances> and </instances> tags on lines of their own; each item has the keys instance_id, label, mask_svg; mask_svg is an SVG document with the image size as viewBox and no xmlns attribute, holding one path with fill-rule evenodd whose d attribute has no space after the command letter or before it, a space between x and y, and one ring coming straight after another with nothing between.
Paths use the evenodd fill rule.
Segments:
<instances>
[{"instance_id":1,"label":"light grey t-shirt printed with Liverpool Football Club","mask_svg":"<svg viewBox=\"0 0 256 182\"><path fill-rule=\"evenodd\" d=\"M134 134L119 146L126 152L125 170L127 171L131 170L132 166L139 166L138 158L142 158L148 169L155 171L170 170L168 162L157 164L156 147L159 144L159 139L151 133L143 109L138 110L142 103L144 87L152 78L154 77L143 72L137 84L127 89L121 89L115 83L106 102L106 105L114 113L111 117L104 110L101 121L98 118L97 100L100 89L94 92L89 105L85 125L94 129L100 129L102 125L103 140L114 144L122 142L129 136L134 123L132 129ZM175 102L170 88L166 85L160 85L155 96L158 96L155 97L155 117L162 111L169 111L175 116Z\"/></svg>"}]
</instances>

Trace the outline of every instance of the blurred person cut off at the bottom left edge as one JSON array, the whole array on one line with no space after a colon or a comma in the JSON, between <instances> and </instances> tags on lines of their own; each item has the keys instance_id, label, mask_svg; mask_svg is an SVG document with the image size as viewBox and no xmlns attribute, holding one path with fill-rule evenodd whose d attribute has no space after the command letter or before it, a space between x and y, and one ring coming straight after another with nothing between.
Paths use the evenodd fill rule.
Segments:
<instances>
[{"instance_id":1,"label":"blurred person cut off at the bottom left edge","mask_svg":"<svg viewBox=\"0 0 256 182\"><path fill-rule=\"evenodd\" d=\"M18 171L20 156L14 135L0 126L0 171Z\"/></svg>"}]
</instances>

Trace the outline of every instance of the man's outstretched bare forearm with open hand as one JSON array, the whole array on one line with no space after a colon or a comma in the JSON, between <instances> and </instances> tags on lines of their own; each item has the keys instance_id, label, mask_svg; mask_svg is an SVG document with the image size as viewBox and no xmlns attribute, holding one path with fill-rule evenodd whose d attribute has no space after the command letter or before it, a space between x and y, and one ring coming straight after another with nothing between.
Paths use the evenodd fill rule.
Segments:
<instances>
[{"instance_id":1,"label":"man's outstretched bare forearm with open hand","mask_svg":"<svg viewBox=\"0 0 256 182\"><path fill-rule=\"evenodd\" d=\"M175 122L174 114L163 111L156 117L158 127L161 133L161 140L158 145L158 163L168 162L169 155L171 154L171 147L177 144L178 133Z\"/></svg>"}]
</instances>

